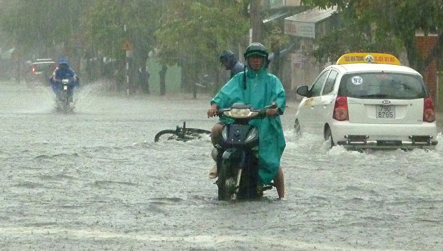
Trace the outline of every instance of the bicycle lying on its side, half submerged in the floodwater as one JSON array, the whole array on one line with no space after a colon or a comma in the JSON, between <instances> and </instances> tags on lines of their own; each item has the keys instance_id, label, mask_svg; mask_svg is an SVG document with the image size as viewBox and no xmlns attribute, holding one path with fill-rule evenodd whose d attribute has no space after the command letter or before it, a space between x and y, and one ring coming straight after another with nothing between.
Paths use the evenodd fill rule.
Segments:
<instances>
[{"instance_id":1,"label":"bicycle lying on its side, half submerged in the floodwater","mask_svg":"<svg viewBox=\"0 0 443 251\"><path fill-rule=\"evenodd\" d=\"M177 126L177 129L175 130L159 131L154 137L154 142L159 142L163 140L195 140L201 138L204 134L209 135L210 131L197 128L186 128L186 122L183 122L183 127Z\"/></svg>"}]
</instances>

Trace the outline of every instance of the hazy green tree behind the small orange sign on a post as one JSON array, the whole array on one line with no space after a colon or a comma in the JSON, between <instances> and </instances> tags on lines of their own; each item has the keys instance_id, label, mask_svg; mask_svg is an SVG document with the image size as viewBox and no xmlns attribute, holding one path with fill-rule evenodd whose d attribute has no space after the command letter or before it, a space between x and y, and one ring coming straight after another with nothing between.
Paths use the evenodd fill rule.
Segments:
<instances>
[{"instance_id":1,"label":"hazy green tree behind the small orange sign on a post","mask_svg":"<svg viewBox=\"0 0 443 251\"><path fill-rule=\"evenodd\" d=\"M121 61L125 58L123 44L131 44L129 72L132 84L136 84L136 71L146 68L147 57L154 49L154 31L159 27L161 7L162 2L155 0L92 1L83 20L82 31L87 41L84 49L90 55L106 55Z\"/></svg>"}]
</instances>

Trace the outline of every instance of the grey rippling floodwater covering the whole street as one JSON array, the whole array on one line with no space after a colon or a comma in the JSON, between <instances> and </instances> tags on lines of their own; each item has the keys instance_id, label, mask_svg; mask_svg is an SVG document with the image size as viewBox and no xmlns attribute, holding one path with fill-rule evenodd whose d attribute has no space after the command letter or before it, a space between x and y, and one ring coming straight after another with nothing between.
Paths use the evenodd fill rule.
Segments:
<instances>
[{"instance_id":1,"label":"grey rippling floodwater covering the whole street","mask_svg":"<svg viewBox=\"0 0 443 251\"><path fill-rule=\"evenodd\" d=\"M55 111L46 86L0 84L3 250L443 250L443 138L435 151L327 149L282 116L287 200L217 201L208 95L75 93Z\"/></svg>"}]
</instances>

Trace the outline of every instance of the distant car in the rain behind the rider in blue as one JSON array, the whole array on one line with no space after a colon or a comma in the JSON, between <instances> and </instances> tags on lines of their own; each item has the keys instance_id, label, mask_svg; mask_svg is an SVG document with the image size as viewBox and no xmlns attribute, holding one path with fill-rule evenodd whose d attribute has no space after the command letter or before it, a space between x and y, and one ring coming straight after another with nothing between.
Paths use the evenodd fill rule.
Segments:
<instances>
[{"instance_id":1,"label":"distant car in the rain behind the rider in blue","mask_svg":"<svg viewBox=\"0 0 443 251\"><path fill-rule=\"evenodd\" d=\"M57 64L53 59L36 59L30 64L26 74L28 84L49 84L49 78L55 71Z\"/></svg>"}]
</instances>

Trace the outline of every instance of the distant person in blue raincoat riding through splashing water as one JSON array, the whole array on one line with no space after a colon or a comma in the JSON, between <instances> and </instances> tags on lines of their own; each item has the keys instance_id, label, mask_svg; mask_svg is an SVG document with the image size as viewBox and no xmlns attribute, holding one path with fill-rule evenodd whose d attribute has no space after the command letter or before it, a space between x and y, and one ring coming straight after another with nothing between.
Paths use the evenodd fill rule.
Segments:
<instances>
[{"instance_id":1,"label":"distant person in blue raincoat riding through splashing water","mask_svg":"<svg viewBox=\"0 0 443 251\"><path fill-rule=\"evenodd\" d=\"M73 89L75 86L79 86L79 79L75 72L69 67L68 57L61 56L58 59L58 67L53 72L51 77L51 87L57 96L57 99L60 100L60 93L62 91L62 80L69 79L71 80L71 84L68 86L68 98L69 102L73 101Z\"/></svg>"}]
</instances>

